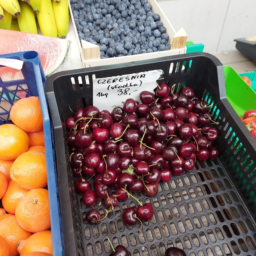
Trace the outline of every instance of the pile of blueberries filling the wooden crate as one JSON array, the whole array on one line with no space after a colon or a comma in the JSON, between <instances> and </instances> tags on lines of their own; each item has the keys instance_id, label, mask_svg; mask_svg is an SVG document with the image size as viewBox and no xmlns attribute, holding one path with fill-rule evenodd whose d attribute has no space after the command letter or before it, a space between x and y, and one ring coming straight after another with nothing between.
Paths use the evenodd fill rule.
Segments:
<instances>
[{"instance_id":1,"label":"pile of blueberries filling the wooden crate","mask_svg":"<svg viewBox=\"0 0 256 256\"><path fill-rule=\"evenodd\" d=\"M147 0L70 0L79 39L101 59L170 50L166 28Z\"/></svg>"}]
</instances>

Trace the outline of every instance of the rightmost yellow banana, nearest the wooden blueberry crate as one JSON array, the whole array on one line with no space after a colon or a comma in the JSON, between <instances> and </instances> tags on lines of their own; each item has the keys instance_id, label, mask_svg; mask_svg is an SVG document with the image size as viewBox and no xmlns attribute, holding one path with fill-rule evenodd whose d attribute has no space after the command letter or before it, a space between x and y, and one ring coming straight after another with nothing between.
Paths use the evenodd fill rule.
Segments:
<instances>
[{"instance_id":1,"label":"rightmost yellow banana, nearest the wooden blueberry crate","mask_svg":"<svg viewBox=\"0 0 256 256\"><path fill-rule=\"evenodd\" d=\"M60 38L66 38L69 31L69 1L62 0L61 3L56 4L56 1L52 0L52 5L57 35Z\"/></svg>"}]
</instances>

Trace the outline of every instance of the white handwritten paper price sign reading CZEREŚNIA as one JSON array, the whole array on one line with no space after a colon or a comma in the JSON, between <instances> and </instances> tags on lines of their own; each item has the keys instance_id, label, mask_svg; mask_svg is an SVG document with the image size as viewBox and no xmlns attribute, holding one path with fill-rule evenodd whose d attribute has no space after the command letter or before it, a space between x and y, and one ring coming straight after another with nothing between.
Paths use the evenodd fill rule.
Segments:
<instances>
[{"instance_id":1,"label":"white handwritten paper price sign reading CZERE\u015aNIA","mask_svg":"<svg viewBox=\"0 0 256 256\"><path fill-rule=\"evenodd\" d=\"M150 91L157 87L160 77L157 70L130 75L93 79L93 105L100 111L111 112L113 105L122 107L126 99L139 99L142 91Z\"/></svg>"}]
</instances>

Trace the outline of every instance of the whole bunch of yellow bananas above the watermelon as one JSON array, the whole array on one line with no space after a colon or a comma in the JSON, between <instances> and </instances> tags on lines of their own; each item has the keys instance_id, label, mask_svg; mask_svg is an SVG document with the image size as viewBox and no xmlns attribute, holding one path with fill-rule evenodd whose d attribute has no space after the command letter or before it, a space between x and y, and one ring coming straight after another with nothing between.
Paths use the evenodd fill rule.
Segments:
<instances>
[{"instance_id":1,"label":"whole bunch of yellow bananas above the watermelon","mask_svg":"<svg viewBox=\"0 0 256 256\"><path fill-rule=\"evenodd\" d=\"M69 0L0 0L0 29L66 38Z\"/></svg>"}]
</instances>

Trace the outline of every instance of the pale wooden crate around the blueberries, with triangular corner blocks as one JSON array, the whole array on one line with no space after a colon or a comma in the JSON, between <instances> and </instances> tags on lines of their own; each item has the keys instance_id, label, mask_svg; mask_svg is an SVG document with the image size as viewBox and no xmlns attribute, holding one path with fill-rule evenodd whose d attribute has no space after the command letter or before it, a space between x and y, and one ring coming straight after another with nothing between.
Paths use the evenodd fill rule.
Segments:
<instances>
[{"instance_id":1,"label":"pale wooden crate around the blueberries, with triangular corner blocks","mask_svg":"<svg viewBox=\"0 0 256 256\"><path fill-rule=\"evenodd\" d=\"M96 67L96 66L106 66L106 65L112 65L112 64L121 64L121 63L134 62L139 60L155 59L163 56L172 56L172 55L186 53L187 48L185 46L185 43L187 40L187 34L184 31L184 29L181 28L178 32L176 32L172 24L167 19L166 15L161 10L156 0L148 0L148 3L151 4L152 6L151 10L154 13L158 13L160 15L160 21L163 23L163 26L166 27L166 34L169 35L169 42L171 43L171 49L167 51L161 51L161 52L142 53L142 54L113 57L113 58L107 58L107 59L100 59L99 46L84 40L80 41L78 37L78 31L75 26L72 10L71 10L71 5L69 3L70 16L71 16L71 20L75 30L75 36L78 43L78 48L80 51L80 56L81 56L83 66L85 68Z\"/></svg>"}]
</instances>

